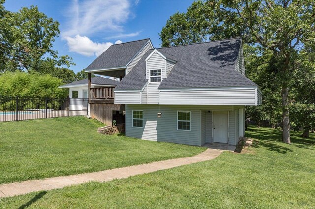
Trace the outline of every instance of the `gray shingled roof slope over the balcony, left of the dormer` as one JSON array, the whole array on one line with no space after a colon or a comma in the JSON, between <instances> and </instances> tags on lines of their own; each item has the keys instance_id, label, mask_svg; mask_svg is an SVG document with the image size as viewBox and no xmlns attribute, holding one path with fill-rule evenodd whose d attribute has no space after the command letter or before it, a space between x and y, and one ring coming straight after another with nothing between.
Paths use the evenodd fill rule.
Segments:
<instances>
[{"instance_id":1,"label":"gray shingled roof slope over the balcony, left of the dormer","mask_svg":"<svg viewBox=\"0 0 315 209\"><path fill-rule=\"evenodd\" d=\"M122 44L113 44L105 52L99 55L87 68L88 70L99 70L126 66L130 59L149 41L143 39Z\"/></svg>"}]
</instances>

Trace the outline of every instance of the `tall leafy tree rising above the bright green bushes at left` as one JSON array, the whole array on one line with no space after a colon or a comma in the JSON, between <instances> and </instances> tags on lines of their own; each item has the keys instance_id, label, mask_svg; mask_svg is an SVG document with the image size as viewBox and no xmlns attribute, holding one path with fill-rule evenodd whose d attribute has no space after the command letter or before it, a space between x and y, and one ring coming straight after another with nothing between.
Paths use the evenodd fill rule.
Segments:
<instances>
[{"instance_id":1,"label":"tall leafy tree rising above the bright green bushes at left","mask_svg":"<svg viewBox=\"0 0 315 209\"><path fill-rule=\"evenodd\" d=\"M37 6L23 7L18 12L5 10L0 1L0 70L39 71L42 61L54 62L56 66L73 65L69 56L58 56L52 49L60 31L59 23Z\"/></svg>"}]
</instances>

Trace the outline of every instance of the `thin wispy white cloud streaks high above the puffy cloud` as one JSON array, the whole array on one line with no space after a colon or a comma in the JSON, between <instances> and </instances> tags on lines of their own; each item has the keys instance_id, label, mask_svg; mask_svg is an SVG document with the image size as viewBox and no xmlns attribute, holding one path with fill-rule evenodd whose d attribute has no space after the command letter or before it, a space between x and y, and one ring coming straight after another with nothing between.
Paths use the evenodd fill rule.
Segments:
<instances>
[{"instance_id":1,"label":"thin wispy white cloud streaks high above the puffy cloud","mask_svg":"<svg viewBox=\"0 0 315 209\"><path fill-rule=\"evenodd\" d=\"M91 35L100 32L122 32L130 14L128 0L74 0L67 14L68 28L63 36Z\"/></svg>"}]
</instances>

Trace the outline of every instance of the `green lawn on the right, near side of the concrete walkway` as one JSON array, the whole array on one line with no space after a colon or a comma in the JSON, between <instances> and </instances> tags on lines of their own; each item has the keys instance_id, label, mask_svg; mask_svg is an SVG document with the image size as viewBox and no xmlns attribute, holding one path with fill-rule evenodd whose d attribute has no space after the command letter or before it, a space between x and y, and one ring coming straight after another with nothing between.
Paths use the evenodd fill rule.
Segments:
<instances>
[{"instance_id":1,"label":"green lawn on the right, near side of the concrete walkway","mask_svg":"<svg viewBox=\"0 0 315 209\"><path fill-rule=\"evenodd\" d=\"M253 128L241 154L107 183L0 199L0 208L315 208L315 135Z\"/></svg>"}]
</instances>

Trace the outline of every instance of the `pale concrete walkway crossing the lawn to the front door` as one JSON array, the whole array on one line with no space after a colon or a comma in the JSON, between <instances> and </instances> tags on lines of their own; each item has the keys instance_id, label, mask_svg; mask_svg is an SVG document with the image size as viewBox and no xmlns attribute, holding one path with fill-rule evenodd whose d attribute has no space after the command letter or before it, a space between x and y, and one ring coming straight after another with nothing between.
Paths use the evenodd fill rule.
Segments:
<instances>
[{"instance_id":1,"label":"pale concrete walkway crossing the lawn to the front door","mask_svg":"<svg viewBox=\"0 0 315 209\"><path fill-rule=\"evenodd\" d=\"M223 150L208 149L193 157L169 159L152 162L149 164L134 165L112 170L94 173L76 174L71 176L52 177L42 180L30 180L25 182L9 183L0 185L0 198L27 194L35 191L52 190L65 186L76 185L89 181L108 182L113 179L124 179L138 174L145 174L159 170L188 165L196 162L211 160L218 157Z\"/></svg>"}]
</instances>

